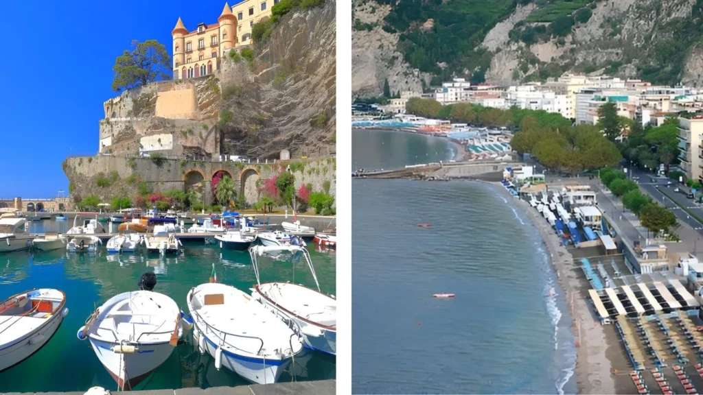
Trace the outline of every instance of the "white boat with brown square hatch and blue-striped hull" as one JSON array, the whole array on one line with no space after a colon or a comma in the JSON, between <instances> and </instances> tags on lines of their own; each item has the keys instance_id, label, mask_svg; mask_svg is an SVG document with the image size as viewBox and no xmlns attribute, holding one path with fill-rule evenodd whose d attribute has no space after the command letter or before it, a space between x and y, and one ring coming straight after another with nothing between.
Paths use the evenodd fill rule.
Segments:
<instances>
[{"instance_id":1,"label":"white boat with brown square hatch and blue-striped hull","mask_svg":"<svg viewBox=\"0 0 703 395\"><path fill-rule=\"evenodd\" d=\"M262 304L235 287L198 285L186 298L193 342L201 354L250 382L270 384L303 349L302 339Z\"/></svg>"}]
</instances>

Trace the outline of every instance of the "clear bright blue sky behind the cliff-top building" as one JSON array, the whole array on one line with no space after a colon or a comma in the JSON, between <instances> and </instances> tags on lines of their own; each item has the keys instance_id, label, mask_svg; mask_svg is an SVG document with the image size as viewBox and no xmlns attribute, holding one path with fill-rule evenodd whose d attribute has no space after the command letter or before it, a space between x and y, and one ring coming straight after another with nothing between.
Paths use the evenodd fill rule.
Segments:
<instances>
[{"instance_id":1,"label":"clear bright blue sky behind the cliff-top building","mask_svg":"<svg viewBox=\"0 0 703 395\"><path fill-rule=\"evenodd\" d=\"M0 63L0 199L67 194L61 162L96 154L103 102L117 96L110 89L115 58L134 39L157 39L170 54L179 16L194 30L217 22L225 2L2 3L5 53L14 56Z\"/></svg>"}]
</instances>

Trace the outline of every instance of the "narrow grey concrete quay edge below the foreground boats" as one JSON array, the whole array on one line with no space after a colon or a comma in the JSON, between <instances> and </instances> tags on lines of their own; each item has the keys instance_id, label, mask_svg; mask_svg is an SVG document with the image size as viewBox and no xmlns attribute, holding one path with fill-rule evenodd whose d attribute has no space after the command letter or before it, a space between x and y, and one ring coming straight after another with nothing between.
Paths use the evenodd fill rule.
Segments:
<instances>
[{"instance_id":1,"label":"narrow grey concrete quay edge below the foreground boats","mask_svg":"<svg viewBox=\"0 0 703 395\"><path fill-rule=\"evenodd\" d=\"M148 391L129 391L135 395L333 395L337 389L337 380L318 380L305 382L279 382L276 384L252 384L237 387L153 389ZM88 389L86 389L87 391ZM110 390L113 394L117 391ZM0 395L84 395L85 392L5 392Z\"/></svg>"}]
</instances>

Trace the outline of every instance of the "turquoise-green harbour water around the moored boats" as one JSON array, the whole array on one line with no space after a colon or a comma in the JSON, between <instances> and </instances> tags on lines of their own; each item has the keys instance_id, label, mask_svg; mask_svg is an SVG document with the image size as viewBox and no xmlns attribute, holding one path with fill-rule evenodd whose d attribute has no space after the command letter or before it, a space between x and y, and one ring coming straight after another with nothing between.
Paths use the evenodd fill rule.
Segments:
<instances>
[{"instance_id":1,"label":"turquoise-green harbour water around the moored boats","mask_svg":"<svg viewBox=\"0 0 703 395\"><path fill-rule=\"evenodd\" d=\"M70 221L69 221L70 222ZM32 231L42 228L65 231L71 224L41 221L32 223ZM322 291L335 294L334 253L316 252L309 243ZM66 293L69 313L47 344L22 363L0 372L0 392L85 391L93 386L115 390L117 385L100 364L88 342L76 337L86 318L105 300L120 292L136 290L142 273L157 276L155 291L172 297L183 311L188 311L186 294L191 287L206 283L215 264L219 282L249 292L256 283L248 253L220 253L219 248L202 241L184 242L179 257L160 257L146 251L122 256L108 255L103 246L97 254L54 252L11 252L0 254L0 299L34 287L53 287ZM290 262L261 261L262 282L291 280ZM295 282L314 286L307 264L295 264ZM143 389L181 387L218 387L250 384L225 368L217 371L209 355L201 356L191 339L179 344L171 357L147 380ZM314 352L295 358L295 380L335 378L335 358ZM285 372L280 381L292 380Z\"/></svg>"}]
</instances>

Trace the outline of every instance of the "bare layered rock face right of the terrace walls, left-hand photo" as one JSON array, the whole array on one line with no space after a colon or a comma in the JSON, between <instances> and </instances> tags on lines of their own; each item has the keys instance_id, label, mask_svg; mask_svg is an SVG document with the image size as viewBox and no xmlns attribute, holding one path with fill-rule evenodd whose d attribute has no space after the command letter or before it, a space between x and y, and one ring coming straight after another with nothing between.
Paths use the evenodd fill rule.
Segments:
<instances>
[{"instance_id":1,"label":"bare layered rock face right of the terrace walls, left-hand photo","mask_svg":"<svg viewBox=\"0 0 703 395\"><path fill-rule=\"evenodd\" d=\"M219 75L223 152L335 153L336 39L335 1L327 0L281 18L254 46L253 63L227 59Z\"/></svg>"}]
</instances>

